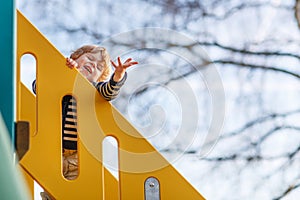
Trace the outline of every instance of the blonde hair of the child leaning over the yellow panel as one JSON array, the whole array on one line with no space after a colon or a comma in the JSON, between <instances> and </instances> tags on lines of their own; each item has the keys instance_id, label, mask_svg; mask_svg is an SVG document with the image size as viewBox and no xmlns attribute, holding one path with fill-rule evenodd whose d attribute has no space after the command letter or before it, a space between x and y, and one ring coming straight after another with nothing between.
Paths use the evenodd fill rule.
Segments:
<instances>
[{"instance_id":1,"label":"blonde hair of the child leaning over the yellow panel","mask_svg":"<svg viewBox=\"0 0 300 200\"><path fill-rule=\"evenodd\" d=\"M107 80L112 70L110 66L110 57L106 49L97 45L84 45L73 51L73 53L70 55L70 58L76 60L85 53L100 53L102 58L101 64L103 65L103 73L99 77L98 81L100 82Z\"/></svg>"}]
</instances>

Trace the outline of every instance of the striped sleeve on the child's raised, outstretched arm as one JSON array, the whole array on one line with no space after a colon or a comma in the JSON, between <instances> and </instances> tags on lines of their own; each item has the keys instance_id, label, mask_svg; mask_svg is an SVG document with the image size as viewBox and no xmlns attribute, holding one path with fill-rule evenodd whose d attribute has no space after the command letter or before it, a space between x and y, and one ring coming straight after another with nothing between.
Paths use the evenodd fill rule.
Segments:
<instances>
[{"instance_id":1,"label":"striped sleeve on the child's raised, outstretched arm","mask_svg":"<svg viewBox=\"0 0 300 200\"><path fill-rule=\"evenodd\" d=\"M124 77L121 81L115 82L113 80L114 74L111 76L108 82L99 82L94 84L98 92L103 96L107 101L111 101L117 97L120 92L120 88L124 85L127 79L127 72L125 72Z\"/></svg>"}]
</instances>

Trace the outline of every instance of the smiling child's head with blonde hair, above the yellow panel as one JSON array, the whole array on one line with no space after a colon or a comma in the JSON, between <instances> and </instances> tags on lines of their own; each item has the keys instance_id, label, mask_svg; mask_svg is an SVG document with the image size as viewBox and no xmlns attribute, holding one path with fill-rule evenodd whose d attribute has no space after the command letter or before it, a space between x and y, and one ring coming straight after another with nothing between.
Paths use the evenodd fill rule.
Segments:
<instances>
[{"instance_id":1,"label":"smiling child's head with blonde hair, above the yellow panel","mask_svg":"<svg viewBox=\"0 0 300 200\"><path fill-rule=\"evenodd\" d=\"M75 50L70 58L78 63L77 69L90 82L104 81L109 78L110 58L105 48L84 45Z\"/></svg>"}]
</instances>

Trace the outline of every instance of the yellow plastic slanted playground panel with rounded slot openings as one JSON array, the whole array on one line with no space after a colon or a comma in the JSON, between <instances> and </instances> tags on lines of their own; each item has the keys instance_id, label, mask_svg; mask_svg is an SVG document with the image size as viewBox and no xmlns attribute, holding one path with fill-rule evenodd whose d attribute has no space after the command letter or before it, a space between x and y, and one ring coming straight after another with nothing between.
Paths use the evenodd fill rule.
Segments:
<instances>
[{"instance_id":1,"label":"yellow plastic slanted playground panel with rounded slot openings","mask_svg":"<svg viewBox=\"0 0 300 200\"><path fill-rule=\"evenodd\" d=\"M150 143L20 13L17 14L17 60L31 53L37 60L36 97L18 77L18 120L30 122L30 149L20 161L24 171L56 199L144 199L144 182L156 177L161 200L204 199ZM61 173L61 101L77 99L80 174L74 181ZM119 182L103 168L102 141L119 145ZM103 177L105 177L103 179Z\"/></svg>"}]
</instances>

